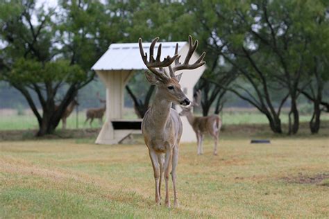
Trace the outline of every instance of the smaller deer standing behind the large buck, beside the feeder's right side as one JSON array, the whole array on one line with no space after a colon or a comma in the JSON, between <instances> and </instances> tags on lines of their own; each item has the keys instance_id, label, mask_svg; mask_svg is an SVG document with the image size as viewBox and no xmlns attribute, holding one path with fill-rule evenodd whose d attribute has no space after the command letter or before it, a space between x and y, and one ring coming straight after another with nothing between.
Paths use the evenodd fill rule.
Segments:
<instances>
[{"instance_id":1,"label":"smaller deer standing behind the large buck, beside the feeder's right side","mask_svg":"<svg viewBox=\"0 0 329 219\"><path fill-rule=\"evenodd\" d=\"M180 112L180 116L186 116L189 124L196 134L196 139L198 140L198 155L203 154L203 134L209 133L214 137L214 155L217 155L217 142L219 138L219 132L221 130L221 118L218 115L211 116L194 116L192 113L192 108L194 106L199 106L201 100L201 91L196 92L196 100L189 106L183 107L183 111Z\"/></svg>"}]
</instances>

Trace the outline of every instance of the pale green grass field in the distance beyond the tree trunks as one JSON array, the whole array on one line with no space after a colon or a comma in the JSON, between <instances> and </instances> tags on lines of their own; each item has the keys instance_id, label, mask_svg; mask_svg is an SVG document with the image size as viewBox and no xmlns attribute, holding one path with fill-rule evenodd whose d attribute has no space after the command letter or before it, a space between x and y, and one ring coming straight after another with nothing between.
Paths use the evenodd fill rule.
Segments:
<instances>
[{"instance_id":1,"label":"pale green grass field in the distance beyond the tree trunks","mask_svg":"<svg viewBox=\"0 0 329 219\"><path fill-rule=\"evenodd\" d=\"M286 110L287 111L287 110ZM221 114L223 124L224 125L232 125L232 124L267 124L269 123L266 116L264 114L260 114L255 109L229 109L224 111ZM137 117L133 113L133 109L126 109L124 111L125 119L136 119ZM105 118L104 118L105 119ZM282 112L282 123L288 123L287 112ZM301 122L309 122L311 119L310 114L301 114L300 121ZM322 121L329 121L329 114L323 113L321 115ZM76 113L74 112L67 119L67 128L75 129L75 128L90 128L89 123L85 122L85 112L79 112L78 114L78 125L76 119ZM101 123L99 120L94 120L92 123L92 128L101 127ZM4 115L0 113L0 130L28 130L37 129L37 119L33 114L25 114L25 115L17 115L17 114L9 114ZM58 128L62 128L62 123L58 125Z\"/></svg>"}]
</instances>

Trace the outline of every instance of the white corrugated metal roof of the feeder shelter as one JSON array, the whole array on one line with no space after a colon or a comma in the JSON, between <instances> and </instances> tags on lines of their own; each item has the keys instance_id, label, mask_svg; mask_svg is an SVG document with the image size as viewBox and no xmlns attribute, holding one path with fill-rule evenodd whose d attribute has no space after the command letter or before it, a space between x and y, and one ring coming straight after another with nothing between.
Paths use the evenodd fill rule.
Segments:
<instances>
[{"instance_id":1,"label":"white corrugated metal roof of the feeder shelter","mask_svg":"<svg viewBox=\"0 0 329 219\"><path fill-rule=\"evenodd\" d=\"M155 44L154 53L158 49L158 45L162 44L161 60L167 55L173 56L176 44L178 44L178 53L187 42L158 42ZM149 47L151 43L143 43L144 52L149 55ZM108 51L94 64L92 70L142 70L146 69L144 62L140 56L138 43L129 44L111 44Z\"/></svg>"}]
</instances>

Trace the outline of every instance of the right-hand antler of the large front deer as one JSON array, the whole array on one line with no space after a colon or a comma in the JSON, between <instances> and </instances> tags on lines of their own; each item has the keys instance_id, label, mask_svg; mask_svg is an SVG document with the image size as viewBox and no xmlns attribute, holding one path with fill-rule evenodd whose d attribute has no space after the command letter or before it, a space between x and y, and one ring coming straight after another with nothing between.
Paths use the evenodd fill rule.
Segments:
<instances>
[{"instance_id":1,"label":"right-hand antler of the large front deer","mask_svg":"<svg viewBox=\"0 0 329 219\"><path fill-rule=\"evenodd\" d=\"M183 69L197 69L197 68L203 66L203 64L205 64L205 61L203 61L203 58L205 58L205 52L203 52L201 54L200 58L198 60L196 60L196 62L194 62L194 64L189 64L189 60L191 59L196 48L198 47L198 44L199 44L198 40L196 40L193 44L192 37L191 37L191 35L189 35L189 51L187 52L187 55L185 57L183 64L181 64L179 62L180 55L178 55L178 44L176 44L175 55L178 55L178 58L176 58L176 60L175 60L174 67L171 68L169 66L169 72L170 72L171 78L175 76L176 71L183 70Z\"/></svg>"}]
</instances>

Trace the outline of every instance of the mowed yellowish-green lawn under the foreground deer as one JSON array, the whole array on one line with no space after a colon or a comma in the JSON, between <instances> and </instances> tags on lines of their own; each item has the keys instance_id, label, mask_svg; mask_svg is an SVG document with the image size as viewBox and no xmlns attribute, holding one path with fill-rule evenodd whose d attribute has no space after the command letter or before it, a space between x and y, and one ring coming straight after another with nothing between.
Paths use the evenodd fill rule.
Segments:
<instances>
[{"instance_id":1,"label":"mowed yellowish-green lawn under the foreground deer","mask_svg":"<svg viewBox=\"0 0 329 219\"><path fill-rule=\"evenodd\" d=\"M1 142L0 218L328 218L328 138L271 140L224 137L216 157L210 139L202 156L181 144L178 209L155 206L142 143Z\"/></svg>"}]
</instances>

